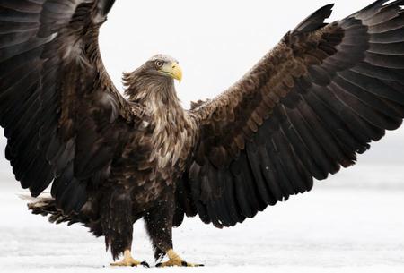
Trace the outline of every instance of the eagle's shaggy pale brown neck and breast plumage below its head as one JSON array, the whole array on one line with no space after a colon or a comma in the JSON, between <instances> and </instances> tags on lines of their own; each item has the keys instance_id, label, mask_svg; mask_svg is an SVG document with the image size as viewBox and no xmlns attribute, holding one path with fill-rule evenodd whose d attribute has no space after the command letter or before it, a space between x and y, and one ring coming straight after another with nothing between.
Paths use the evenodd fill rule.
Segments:
<instances>
[{"instance_id":1,"label":"eagle's shaggy pale brown neck and breast plumage below its head","mask_svg":"<svg viewBox=\"0 0 404 273\"><path fill-rule=\"evenodd\" d=\"M128 89L131 89L126 91L129 99L144 105L152 115L154 130L150 160L157 160L159 167L184 164L194 141L193 131L189 129L196 125L181 107L174 82L148 78L131 84Z\"/></svg>"}]
</instances>

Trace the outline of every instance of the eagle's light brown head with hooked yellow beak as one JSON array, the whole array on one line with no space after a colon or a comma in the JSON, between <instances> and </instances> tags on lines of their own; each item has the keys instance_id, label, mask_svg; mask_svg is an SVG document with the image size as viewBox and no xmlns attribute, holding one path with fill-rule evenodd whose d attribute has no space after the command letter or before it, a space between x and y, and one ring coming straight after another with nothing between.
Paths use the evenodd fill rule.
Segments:
<instances>
[{"instance_id":1,"label":"eagle's light brown head with hooked yellow beak","mask_svg":"<svg viewBox=\"0 0 404 273\"><path fill-rule=\"evenodd\" d=\"M174 90L174 80L182 80L182 70L170 55L154 55L134 72L123 75L125 93L131 100Z\"/></svg>"}]
</instances>

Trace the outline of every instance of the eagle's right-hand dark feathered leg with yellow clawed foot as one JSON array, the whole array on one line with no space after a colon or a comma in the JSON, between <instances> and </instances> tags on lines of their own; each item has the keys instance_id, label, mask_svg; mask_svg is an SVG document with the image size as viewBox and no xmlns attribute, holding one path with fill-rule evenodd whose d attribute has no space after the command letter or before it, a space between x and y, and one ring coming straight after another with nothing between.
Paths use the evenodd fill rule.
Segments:
<instances>
[{"instance_id":1,"label":"eagle's right-hand dark feathered leg with yellow clawed foot","mask_svg":"<svg viewBox=\"0 0 404 273\"><path fill-rule=\"evenodd\" d=\"M173 199L171 199L173 200ZM200 267L201 264L189 263L180 258L172 247L172 219L174 217L175 205L174 202L166 200L162 202L162 206L148 211L145 216L145 227L152 239L154 246L154 258L159 260L165 255L169 260L158 263L157 267Z\"/></svg>"}]
</instances>

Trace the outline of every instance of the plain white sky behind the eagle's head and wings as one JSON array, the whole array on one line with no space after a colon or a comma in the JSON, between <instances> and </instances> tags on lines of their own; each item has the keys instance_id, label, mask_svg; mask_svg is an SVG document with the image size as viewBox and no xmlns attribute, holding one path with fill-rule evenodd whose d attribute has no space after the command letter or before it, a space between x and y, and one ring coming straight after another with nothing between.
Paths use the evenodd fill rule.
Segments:
<instances>
[{"instance_id":1,"label":"plain white sky behind the eagle's head and wings","mask_svg":"<svg viewBox=\"0 0 404 273\"><path fill-rule=\"evenodd\" d=\"M330 21L355 13L372 0L333 1ZM132 71L152 55L180 61L184 71L178 92L184 107L190 100L214 98L242 77L285 32L327 0L118 0L101 29L101 53L121 90L123 71ZM404 130L389 132L362 164L404 163ZM4 150L5 140L0 140ZM0 172L10 167L0 158Z\"/></svg>"}]
</instances>

